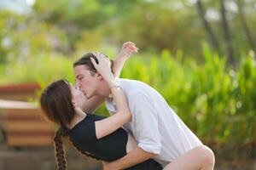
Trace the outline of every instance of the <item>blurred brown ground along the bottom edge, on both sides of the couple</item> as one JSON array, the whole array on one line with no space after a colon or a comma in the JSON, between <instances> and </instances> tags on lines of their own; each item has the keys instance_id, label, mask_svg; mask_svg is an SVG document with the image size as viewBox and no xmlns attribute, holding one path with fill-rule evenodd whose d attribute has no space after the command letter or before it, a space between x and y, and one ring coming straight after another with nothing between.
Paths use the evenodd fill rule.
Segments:
<instances>
[{"instance_id":1,"label":"blurred brown ground along the bottom edge, on both sides of the couple","mask_svg":"<svg viewBox=\"0 0 256 170\"><path fill-rule=\"evenodd\" d=\"M67 145L67 144L66 144ZM71 146L67 146L67 166L71 170L100 170L101 161L81 156ZM9 148L0 144L0 170L53 170L55 169L53 147ZM256 160L225 161L216 160L215 170L256 170Z\"/></svg>"}]
</instances>

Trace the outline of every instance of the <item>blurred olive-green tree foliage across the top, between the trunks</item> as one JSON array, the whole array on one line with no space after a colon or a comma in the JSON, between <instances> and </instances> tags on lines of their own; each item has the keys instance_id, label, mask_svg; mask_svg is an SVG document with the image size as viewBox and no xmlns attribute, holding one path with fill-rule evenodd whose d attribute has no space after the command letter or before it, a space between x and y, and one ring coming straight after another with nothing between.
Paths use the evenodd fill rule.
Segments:
<instances>
[{"instance_id":1,"label":"blurred olive-green tree foliage across the top, between the trunks","mask_svg":"<svg viewBox=\"0 0 256 170\"><path fill-rule=\"evenodd\" d=\"M251 47L234 9L236 1L227 3L232 42L238 58ZM243 5L252 33L256 26L254 3L248 0ZM225 54L227 44L219 1L205 0L203 4L220 43L220 52ZM36 1L32 11L20 15L0 10L1 63L9 58L33 56L40 51L73 54L81 48L114 46L128 41L127 37L145 51L155 53L169 49L177 53L183 49L185 56L201 59L201 42L210 42L196 3L187 0L44 0Z\"/></svg>"}]
</instances>

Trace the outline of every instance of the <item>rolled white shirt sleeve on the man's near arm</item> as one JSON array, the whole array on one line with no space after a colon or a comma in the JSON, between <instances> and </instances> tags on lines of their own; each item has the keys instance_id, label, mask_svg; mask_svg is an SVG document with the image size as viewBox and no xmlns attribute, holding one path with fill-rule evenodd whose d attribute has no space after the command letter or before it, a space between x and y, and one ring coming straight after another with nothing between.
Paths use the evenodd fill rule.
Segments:
<instances>
[{"instance_id":1,"label":"rolled white shirt sleeve on the man's near arm","mask_svg":"<svg viewBox=\"0 0 256 170\"><path fill-rule=\"evenodd\" d=\"M138 146L145 151L160 154L161 138L158 126L158 116L154 108L153 100L148 94L133 94L130 102L132 119L135 122L133 133L138 142Z\"/></svg>"}]
</instances>

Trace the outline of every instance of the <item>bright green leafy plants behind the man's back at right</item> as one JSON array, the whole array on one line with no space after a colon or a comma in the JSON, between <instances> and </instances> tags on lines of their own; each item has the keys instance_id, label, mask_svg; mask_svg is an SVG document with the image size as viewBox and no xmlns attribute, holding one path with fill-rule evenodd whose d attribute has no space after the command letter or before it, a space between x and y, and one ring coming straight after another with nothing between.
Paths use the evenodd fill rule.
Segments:
<instances>
[{"instance_id":1,"label":"bright green leafy plants behind the man's back at right","mask_svg":"<svg viewBox=\"0 0 256 170\"><path fill-rule=\"evenodd\" d=\"M131 59L121 76L156 88L205 143L252 144L256 139L255 59L245 56L234 71L209 49L204 53L203 65L173 59L168 51L160 58Z\"/></svg>"}]
</instances>

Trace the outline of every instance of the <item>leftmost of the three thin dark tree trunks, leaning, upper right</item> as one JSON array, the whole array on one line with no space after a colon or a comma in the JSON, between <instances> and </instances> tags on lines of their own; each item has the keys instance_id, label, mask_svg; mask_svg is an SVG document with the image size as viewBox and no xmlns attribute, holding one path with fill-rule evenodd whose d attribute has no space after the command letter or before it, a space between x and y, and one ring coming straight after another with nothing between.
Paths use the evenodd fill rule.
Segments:
<instances>
[{"instance_id":1,"label":"leftmost of the three thin dark tree trunks, leaning, upper right","mask_svg":"<svg viewBox=\"0 0 256 170\"><path fill-rule=\"evenodd\" d=\"M212 31L212 28L211 28L211 26L209 25L209 23L208 23L208 21L207 21L207 19L206 19L206 17L205 17L206 13L205 13L205 9L204 9L204 7L203 7L203 4L201 3L201 0L197 0L197 1L196 1L196 6L197 6L198 14L199 14L200 17L201 17L201 21L202 21L202 23L203 23L203 26L205 27L205 29L206 29L206 31L207 31L207 33L208 33L208 36L209 36L209 38L210 38L210 40L211 40L211 42L212 42L212 46L213 46L213 48L214 48L215 50L217 50L218 53L219 53L218 40L217 40L217 38L215 37L215 35L214 35L213 31Z\"/></svg>"}]
</instances>

